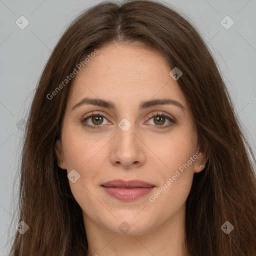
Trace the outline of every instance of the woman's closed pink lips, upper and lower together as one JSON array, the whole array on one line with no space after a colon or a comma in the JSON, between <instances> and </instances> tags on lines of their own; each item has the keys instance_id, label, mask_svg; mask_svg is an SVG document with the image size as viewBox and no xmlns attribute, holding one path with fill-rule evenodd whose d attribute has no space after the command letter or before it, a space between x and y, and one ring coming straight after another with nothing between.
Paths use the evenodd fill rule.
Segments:
<instances>
[{"instance_id":1,"label":"woman's closed pink lips, upper and lower together","mask_svg":"<svg viewBox=\"0 0 256 256\"><path fill-rule=\"evenodd\" d=\"M125 181L121 179L105 182L101 186L106 193L122 201L135 200L149 193L154 187L154 185L142 180Z\"/></svg>"}]
</instances>

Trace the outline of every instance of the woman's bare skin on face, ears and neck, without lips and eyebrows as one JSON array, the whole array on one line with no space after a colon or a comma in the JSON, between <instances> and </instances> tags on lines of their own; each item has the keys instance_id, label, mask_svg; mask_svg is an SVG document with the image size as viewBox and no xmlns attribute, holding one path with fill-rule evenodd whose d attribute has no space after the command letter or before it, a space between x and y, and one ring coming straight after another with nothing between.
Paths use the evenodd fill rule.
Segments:
<instances>
[{"instance_id":1,"label":"woman's bare skin on face, ears and neck, without lips and eyebrows","mask_svg":"<svg viewBox=\"0 0 256 256\"><path fill-rule=\"evenodd\" d=\"M133 45L110 44L98 49L73 78L65 110L61 140L55 151L59 167L80 178L69 185L83 212L88 240L87 255L184 256L185 201L194 172L203 169L207 157L200 150L191 113L177 81L170 75L165 59L156 51ZM84 97L111 100L109 109L81 105ZM141 100L171 98L172 104L138 110ZM83 126L86 114L100 112L102 128ZM171 126L165 118L158 124L150 114L162 112L176 120ZM161 116L161 115L160 115ZM123 131L118 123L126 118L131 126ZM87 124L97 125L89 117ZM149 201L182 164L197 151L200 156L155 201ZM153 190L133 201L108 195L101 184L112 179L139 179L155 185ZM127 233L118 226L126 221Z\"/></svg>"}]
</instances>

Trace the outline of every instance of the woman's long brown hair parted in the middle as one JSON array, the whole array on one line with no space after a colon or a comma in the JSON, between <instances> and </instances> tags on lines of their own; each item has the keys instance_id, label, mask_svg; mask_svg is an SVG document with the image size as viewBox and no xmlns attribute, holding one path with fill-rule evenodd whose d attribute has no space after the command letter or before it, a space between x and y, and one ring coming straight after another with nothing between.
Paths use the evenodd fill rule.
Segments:
<instances>
[{"instance_id":1,"label":"woman's long brown hair parted in the middle","mask_svg":"<svg viewBox=\"0 0 256 256\"><path fill-rule=\"evenodd\" d=\"M177 82L209 156L204 170L194 173L186 200L188 253L255 256L255 157L205 42L181 13L151 0L97 4L72 22L53 49L35 90L22 149L18 221L29 229L16 231L10 255L85 254L82 210L54 152L72 80L55 89L86 55L111 42L144 43L161 52L170 70L183 73ZM225 221L234 226L228 234L221 229Z\"/></svg>"}]
</instances>

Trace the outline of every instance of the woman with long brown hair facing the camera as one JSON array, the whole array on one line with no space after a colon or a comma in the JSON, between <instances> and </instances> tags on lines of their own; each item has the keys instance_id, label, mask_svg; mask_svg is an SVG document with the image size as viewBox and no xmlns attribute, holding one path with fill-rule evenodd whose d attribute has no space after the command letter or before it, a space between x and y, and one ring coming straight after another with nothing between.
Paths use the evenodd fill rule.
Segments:
<instances>
[{"instance_id":1,"label":"woman with long brown hair facing the camera","mask_svg":"<svg viewBox=\"0 0 256 256\"><path fill-rule=\"evenodd\" d=\"M158 2L102 2L41 74L10 255L256 255L246 147L255 162L195 28Z\"/></svg>"}]
</instances>

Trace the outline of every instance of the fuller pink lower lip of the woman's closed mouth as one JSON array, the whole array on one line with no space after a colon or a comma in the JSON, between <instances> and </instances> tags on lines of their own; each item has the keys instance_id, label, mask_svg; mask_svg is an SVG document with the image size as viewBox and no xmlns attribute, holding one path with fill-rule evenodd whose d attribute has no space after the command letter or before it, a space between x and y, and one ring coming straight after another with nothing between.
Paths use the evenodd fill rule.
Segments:
<instances>
[{"instance_id":1,"label":"fuller pink lower lip of the woman's closed mouth","mask_svg":"<svg viewBox=\"0 0 256 256\"><path fill-rule=\"evenodd\" d=\"M109 195L122 201L135 200L149 193L153 189L153 187L102 187Z\"/></svg>"}]
</instances>

